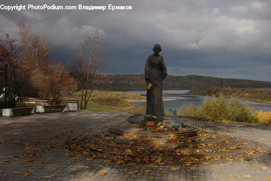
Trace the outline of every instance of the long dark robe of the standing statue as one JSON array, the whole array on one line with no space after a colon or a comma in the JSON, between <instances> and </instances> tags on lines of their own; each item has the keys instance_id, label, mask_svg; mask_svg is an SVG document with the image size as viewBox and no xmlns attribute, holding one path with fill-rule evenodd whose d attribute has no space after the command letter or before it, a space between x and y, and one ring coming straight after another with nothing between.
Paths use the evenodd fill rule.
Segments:
<instances>
[{"instance_id":1,"label":"long dark robe of the standing statue","mask_svg":"<svg viewBox=\"0 0 271 181\"><path fill-rule=\"evenodd\" d=\"M161 59L158 62L157 57ZM167 76L167 68L163 57L152 54L148 57L145 65L145 80L149 79L151 89L147 89L146 115L155 115L159 118L164 116L164 104L162 98L163 80Z\"/></svg>"}]
</instances>

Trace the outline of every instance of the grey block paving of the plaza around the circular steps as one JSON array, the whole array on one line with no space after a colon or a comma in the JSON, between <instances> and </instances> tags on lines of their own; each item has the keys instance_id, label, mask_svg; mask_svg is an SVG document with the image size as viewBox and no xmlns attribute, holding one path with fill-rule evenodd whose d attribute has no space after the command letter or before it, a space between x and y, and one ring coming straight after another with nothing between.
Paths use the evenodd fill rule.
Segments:
<instances>
[{"instance_id":1,"label":"grey block paving of the plaza around the circular steps","mask_svg":"<svg viewBox=\"0 0 271 181\"><path fill-rule=\"evenodd\" d=\"M269 178L271 175L271 155L266 152L258 152L253 155L256 159L250 158L249 155L243 157L243 159L250 158L251 161L233 160L234 163L223 161L219 164L210 164L208 166L199 165L197 166L198 170L194 171L179 165L159 165L159 167L151 168L144 164L137 164L137 167L127 167L114 162L103 162L104 159L102 158L76 155L73 157L65 156L65 154L73 154L73 151L67 150L64 147L68 140L104 132L110 126L123 122L131 115L128 113L79 110L67 113L1 117L0 180L130 181L151 180L150 177L153 176L154 180L228 181L232 179L235 181L260 181ZM245 123L218 123L185 118L180 118L180 120L185 124L201 127L206 132L216 132L223 136L237 136L240 139L255 141L259 145L263 145L262 149L264 151L271 151L270 126ZM76 159L76 157L79 157L79 159ZM89 159L89 161L86 161L86 159ZM59 163L60 161L61 163ZM27 166L28 164L29 166ZM101 165L108 167L98 167ZM79 168L79 166L84 168ZM266 169L262 169L261 167L263 166ZM173 167L179 167L179 170L170 170ZM78 169L78 171L72 171L73 169ZM148 169L152 170L152 172L139 173L136 178L131 178L131 174L120 171L123 169L129 171L139 170L139 172L140 170ZM30 173L28 176L24 175L29 170L35 172ZM99 175L102 170L107 170L105 176ZM168 173L156 173L157 170L167 171ZM15 173L18 171L22 173ZM74 177L70 177L71 175L74 175ZM91 175L91 177L85 177L85 175ZM229 175L233 177L229 177ZM235 175L242 177L236 177ZM251 177L244 177L245 175L250 175ZM51 178L42 178L44 176L51 176ZM123 176L128 178L123 178ZM191 176L201 176L201 178L192 178Z\"/></svg>"}]
</instances>

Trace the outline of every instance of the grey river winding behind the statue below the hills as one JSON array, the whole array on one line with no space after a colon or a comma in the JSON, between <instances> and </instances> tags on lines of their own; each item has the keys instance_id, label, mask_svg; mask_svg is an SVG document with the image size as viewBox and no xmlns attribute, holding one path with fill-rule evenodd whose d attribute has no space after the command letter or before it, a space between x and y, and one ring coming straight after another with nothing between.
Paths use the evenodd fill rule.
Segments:
<instances>
[{"instance_id":1,"label":"grey river winding behind the statue below the hills","mask_svg":"<svg viewBox=\"0 0 271 181\"><path fill-rule=\"evenodd\" d=\"M188 94L189 90L165 90L163 91L163 98L169 98L173 100L164 100L164 109L178 109L183 104L189 104L192 102L194 105L201 105L203 99L206 96L202 95L190 95ZM127 91L127 93L138 93L142 96L146 96L146 91ZM213 97L210 97L213 98ZM246 100L238 99L240 103L244 103ZM271 111L271 104L268 103L259 103L259 102L252 102L248 101L248 103L253 107L254 110L266 110ZM135 101L131 102L132 105L135 106L145 106L146 101Z\"/></svg>"}]
</instances>

